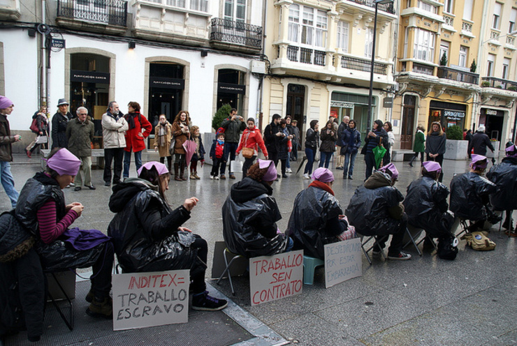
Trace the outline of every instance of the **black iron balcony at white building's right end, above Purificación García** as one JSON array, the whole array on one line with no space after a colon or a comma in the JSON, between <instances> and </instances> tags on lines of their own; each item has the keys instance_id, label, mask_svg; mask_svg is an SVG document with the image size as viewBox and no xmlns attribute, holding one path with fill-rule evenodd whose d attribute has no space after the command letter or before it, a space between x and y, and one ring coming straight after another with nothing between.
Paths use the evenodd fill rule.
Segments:
<instances>
[{"instance_id":1,"label":"black iron balcony at white building's right end, above Purificaci\u00f3n Garc\u00eda","mask_svg":"<svg viewBox=\"0 0 517 346\"><path fill-rule=\"evenodd\" d=\"M210 45L242 52L259 52L262 47L262 27L213 18Z\"/></svg>"}]
</instances>

